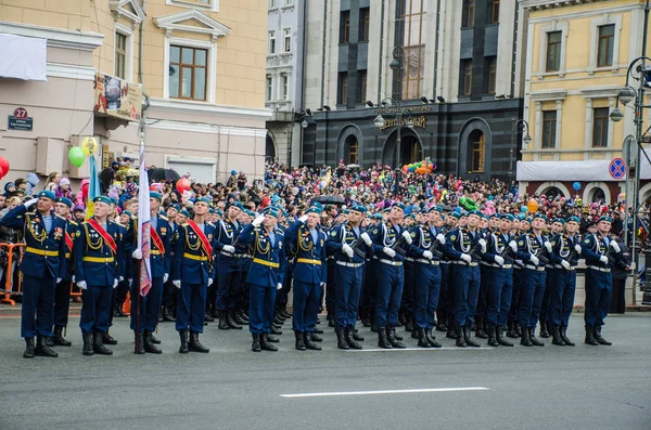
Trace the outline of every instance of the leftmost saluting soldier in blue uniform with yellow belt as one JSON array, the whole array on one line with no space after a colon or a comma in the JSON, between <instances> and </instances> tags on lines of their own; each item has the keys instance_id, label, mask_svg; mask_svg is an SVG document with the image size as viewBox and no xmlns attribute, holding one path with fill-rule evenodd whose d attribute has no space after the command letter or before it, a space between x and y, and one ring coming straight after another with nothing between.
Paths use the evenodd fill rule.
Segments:
<instances>
[{"instance_id":1,"label":"leftmost saluting soldier in blue uniform with yellow belt","mask_svg":"<svg viewBox=\"0 0 651 430\"><path fill-rule=\"evenodd\" d=\"M55 200L54 193L42 191L37 198L16 206L0 220L2 226L23 230L25 240L21 263L21 337L25 338L25 359L33 359L34 355L59 356L48 347L48 338L52 336L55 287L66 276L66 221L51 213ZM36 210L27 212L35 204Z\"/></svg>"}]
</instances>

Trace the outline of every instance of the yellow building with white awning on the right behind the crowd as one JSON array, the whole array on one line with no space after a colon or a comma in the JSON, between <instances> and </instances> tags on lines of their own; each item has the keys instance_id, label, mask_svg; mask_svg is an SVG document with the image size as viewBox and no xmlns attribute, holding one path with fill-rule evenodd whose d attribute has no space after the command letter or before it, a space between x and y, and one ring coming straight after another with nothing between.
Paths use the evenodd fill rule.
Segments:
<instances>
[{"instance_id":1,"label":"yellow building with white awning on the right behind the crowd","mask_svg":"<svg viewBox=\"0 0 651 430\"><path fill-rule=\"evenodd\" d=\"M611 175L610 164L622 157L625 138L635 134L634 109L621 106L621 122L609 115L629 63L642 54L644 3L521 2L528 18L524 118L533 138L518 164L521 192L605 203L617 201L624 192L624 179ZM648 164L642 179L651 179ZM650 193L651 185L641 191Z\"/></svg>"}]
</instances>

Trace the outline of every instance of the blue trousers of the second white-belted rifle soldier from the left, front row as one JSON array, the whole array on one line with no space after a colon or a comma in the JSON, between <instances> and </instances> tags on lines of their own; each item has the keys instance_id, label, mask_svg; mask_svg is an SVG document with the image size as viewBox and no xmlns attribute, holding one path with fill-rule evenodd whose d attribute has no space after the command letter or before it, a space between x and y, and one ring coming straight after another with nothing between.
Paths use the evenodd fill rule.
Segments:
<instances>
[{"instance_id":1,"label":"blue trousers of the second white-belted rifle soldier from the left, front row","mask_svg":"<svg viewBox=\"0 0 651 430\"><path fill-rule=\"evenodd\" d=\"M405 269L378 262L378 299L375 303L375 324L381 327L395 327L403 298Z\"/></svg>"}]
</instances>

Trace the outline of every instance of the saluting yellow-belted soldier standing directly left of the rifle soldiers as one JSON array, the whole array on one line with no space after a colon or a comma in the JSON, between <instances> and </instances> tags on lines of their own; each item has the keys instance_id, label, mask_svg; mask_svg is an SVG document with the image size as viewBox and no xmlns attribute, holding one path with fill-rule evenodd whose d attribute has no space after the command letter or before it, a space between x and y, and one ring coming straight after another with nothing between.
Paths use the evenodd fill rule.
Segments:
<instances>
[{"instance_id":1,"label":"saluting yellow-belted soldier standing directly left of the rifle soldiers","mask_svg":"<svg viewBox=\"0 0 651 430\"><path fill-rule=\"evenodd\" d=\"M326 233L319 226L321 210L311 207L285 231L285 244L296 249L292 271L294 279L293 329L299 351L321 347L311 340L317 324L321 287L328 278Z\"/></svg>"}]
</instances>

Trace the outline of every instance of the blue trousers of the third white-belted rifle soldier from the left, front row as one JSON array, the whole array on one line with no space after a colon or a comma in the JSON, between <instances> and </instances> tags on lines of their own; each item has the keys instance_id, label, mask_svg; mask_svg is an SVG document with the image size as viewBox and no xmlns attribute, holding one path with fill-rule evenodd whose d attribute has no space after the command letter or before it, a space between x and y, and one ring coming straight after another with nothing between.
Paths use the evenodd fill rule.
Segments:
<instances>
[{"instance_id":1,"label":"blue trousers of the third white-belted rifle soldier from the left, front row","mask_svg":"<svg viewBox=\"0 0 651 430\"><path fill-rule=\"evenodd\" d=\"M441 268L414 264L413 320L418 327L434 328L438 294L441 292Z\"/></svg>"}]
</instances>

